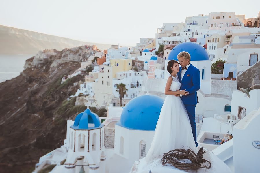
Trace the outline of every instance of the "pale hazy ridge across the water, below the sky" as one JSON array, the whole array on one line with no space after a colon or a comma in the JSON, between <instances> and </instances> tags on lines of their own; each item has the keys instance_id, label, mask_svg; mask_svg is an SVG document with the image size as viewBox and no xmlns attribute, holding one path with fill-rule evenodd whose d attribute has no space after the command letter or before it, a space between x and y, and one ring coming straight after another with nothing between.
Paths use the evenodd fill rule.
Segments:
<instances>
[{"instance_id":1,"label":"pale hazy ridge across the water, below the sky","mask_svg":"<svg viewBox=\"0 0 260 173\"><path fill-rule=\"evenodd\" d=\"M0 25L0 54L36 54L39 50L62 50L86 44L94 44L101 50L111 47Z\"/></svg>"}]
</instances>

